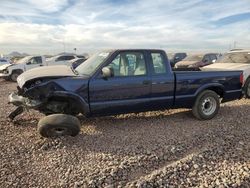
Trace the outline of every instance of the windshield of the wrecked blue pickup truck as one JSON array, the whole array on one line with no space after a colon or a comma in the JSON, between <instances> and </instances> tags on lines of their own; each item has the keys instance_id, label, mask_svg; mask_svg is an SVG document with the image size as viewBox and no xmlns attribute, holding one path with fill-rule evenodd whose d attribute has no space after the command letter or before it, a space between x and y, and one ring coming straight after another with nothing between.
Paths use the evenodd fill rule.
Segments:
<instances>
[{"instance_id":1,"label":"windshield of the wrecked blue pickup truck","mask_svg":"<svg viewBox=\"0 0 250 188\"><path fill-rule=\"evenodd\" d=\"M107 59L109 54L109 52L96 53L84 61L84 63L79 65L75 70L80 75L92 75L96 69Z\"/></svg>"}]
</instances>

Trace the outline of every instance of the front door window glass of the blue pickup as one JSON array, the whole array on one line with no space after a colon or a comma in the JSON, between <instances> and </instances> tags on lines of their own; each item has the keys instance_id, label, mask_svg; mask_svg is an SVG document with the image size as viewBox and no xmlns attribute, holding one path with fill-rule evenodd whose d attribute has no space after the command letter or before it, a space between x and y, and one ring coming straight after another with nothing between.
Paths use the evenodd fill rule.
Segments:
<instances>
[{"instance_id":1,"label":"front door window glass of the blue pickup","mask_svg":"<svg viewBox=\"0 0 250 188\"><path fill-rule=\"evenodd\" d=\"M140 52L123 52L109 64L114 77L146 75L144 55Z\"/></svg>"}]
</instances>

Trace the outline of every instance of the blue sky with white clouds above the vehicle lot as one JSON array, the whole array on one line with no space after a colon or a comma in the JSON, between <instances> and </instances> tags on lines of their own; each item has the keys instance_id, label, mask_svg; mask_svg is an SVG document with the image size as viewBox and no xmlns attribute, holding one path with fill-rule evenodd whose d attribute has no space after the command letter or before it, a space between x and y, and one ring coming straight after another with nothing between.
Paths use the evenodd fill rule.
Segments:
<instances>
[{"instance_id":1,"label":"blue sky with white clouds above the vehicle lot","mask_svg":"<svg viewBox=\"0 0 250 188\"><path fill-rule=\"evenodd\" d=\"M250 48L250 0L0 0L0 54Z\"/></svg>"}]
</instances>

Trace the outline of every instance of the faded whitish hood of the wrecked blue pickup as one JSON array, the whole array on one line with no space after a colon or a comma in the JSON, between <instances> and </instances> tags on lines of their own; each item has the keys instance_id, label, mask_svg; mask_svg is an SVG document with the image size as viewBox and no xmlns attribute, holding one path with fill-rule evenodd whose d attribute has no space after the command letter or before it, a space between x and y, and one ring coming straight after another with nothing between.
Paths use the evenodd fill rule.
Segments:
<instances>
[{"instance_id":1,"label":"faded whitish hood of the wrecked blue pickup","mask_svg":"<svg viewBox=\"0 0 250 188\"><path fill-rule=\"evenodd\" d=\"M65 77L65 76L77 76L71 67L65 65L57 65L57 66L45 66L38 67L31 70L28 70L22 73L17 78L17 83L20 88L29 81L36 78L46 78L46 77Z\"/></svg>"}]
</instances>

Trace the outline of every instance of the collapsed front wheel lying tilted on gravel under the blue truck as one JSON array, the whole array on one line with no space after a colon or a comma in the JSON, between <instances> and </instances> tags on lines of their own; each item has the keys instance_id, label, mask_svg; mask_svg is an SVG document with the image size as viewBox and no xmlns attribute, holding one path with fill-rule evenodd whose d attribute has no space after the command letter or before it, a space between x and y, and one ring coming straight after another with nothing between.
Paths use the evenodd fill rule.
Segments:
<instances>
[{"instance_id":1,"label":"collapsed front wheel lying tilted on gravel under the blue truck","mask_svg":"<svg viewBox=\"0 0 250 188\"><path fill-rule=\"evenodd\" d=\"M80 121L66 114L49 115L38 122L38 132L47 138L76 136L80 132Z\"/></svg>"}]
</instances>

